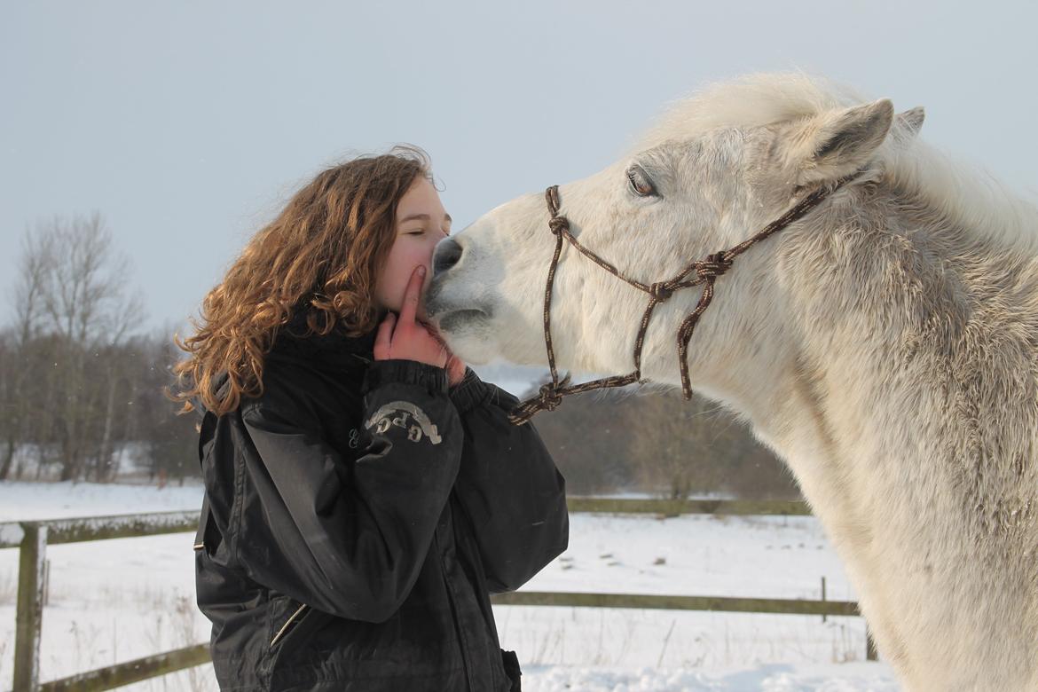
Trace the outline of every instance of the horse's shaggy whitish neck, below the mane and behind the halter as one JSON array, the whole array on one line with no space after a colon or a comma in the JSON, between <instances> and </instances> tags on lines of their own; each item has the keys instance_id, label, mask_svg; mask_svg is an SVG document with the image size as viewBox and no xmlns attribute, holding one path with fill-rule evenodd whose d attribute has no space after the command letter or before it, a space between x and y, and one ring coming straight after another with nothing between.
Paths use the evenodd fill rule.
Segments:
<instances>
[{"instance_id":1,"label":"horse's shaggy whitish neck, below the mane and behind the halter","mask_svg":"<svg viewBox=\"0 0 1038 692\"><path fill-rule=\"evenodd\" d=\"M825 524L884 654L933 665L935 622L978 613L951 635L951 670L992 633L1034 629L1038 267L881 187L847 201L777 244L762 328L782 344L743 363L742 386L768 403L755 431Z\"/></svg>"}]
</instances>

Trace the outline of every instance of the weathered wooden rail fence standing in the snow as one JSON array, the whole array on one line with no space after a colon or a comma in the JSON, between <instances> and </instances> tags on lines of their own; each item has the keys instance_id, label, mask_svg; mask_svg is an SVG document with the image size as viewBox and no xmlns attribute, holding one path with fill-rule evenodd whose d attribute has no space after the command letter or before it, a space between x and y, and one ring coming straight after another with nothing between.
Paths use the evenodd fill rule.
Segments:
<instances>
[{"instance_id":1,"label":"weathered wooden rail fence standing in the snow","mask_svg":"<svg viewBox=\"0 0 1038 692\"><path fill-rule=\"evenodd\" d=\"M653 500L572 497L571 513L679 515L810 515L803 502L741 500ZM195 531L197 511L92 517L0 524L0 549L19 548L18 606L15 634L15 692L93 692L111 690L209 662L209 644L196 644L128 661L48 683L39 682L39 637L43 630L44 580L48 545L129 538ZM703 596L631 593L552 593L517 591L493 597L495 605L564 606L576 608L644 608L718 612L857 615L848 601L739 599ZM866 657L875 660L871 637Z\"/></svg>"}]
</instances>

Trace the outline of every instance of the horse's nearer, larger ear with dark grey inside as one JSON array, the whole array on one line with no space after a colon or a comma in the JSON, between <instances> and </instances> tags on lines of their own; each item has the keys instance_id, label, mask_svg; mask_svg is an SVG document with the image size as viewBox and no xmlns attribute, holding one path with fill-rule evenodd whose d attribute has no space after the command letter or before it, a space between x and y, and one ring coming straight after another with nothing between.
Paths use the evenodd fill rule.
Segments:
<instances>
[{"instance_id":1,"label":"horse's nearer, larger ear with dark grey inside","mask_svg":"<svg viewBox=\"0 0 1038 692\"><path fill-rule=\"evenodd\" d=\"M798 185L828 183L858 170L883 143L893 122L894 105L887 99L813 118L796 138Z\"/></svg>"}]
</instances>

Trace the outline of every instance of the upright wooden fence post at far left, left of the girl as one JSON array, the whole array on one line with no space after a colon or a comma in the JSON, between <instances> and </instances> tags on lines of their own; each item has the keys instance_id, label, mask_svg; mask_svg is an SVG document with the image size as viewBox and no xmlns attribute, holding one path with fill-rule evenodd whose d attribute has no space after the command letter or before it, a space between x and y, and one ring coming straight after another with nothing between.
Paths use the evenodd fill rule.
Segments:
<instances>
[{"instance_id":1,"label":"upright wooden fence post at far left, left of the girl","mask_svg":"<svg viewBox=\"0 0 1038 692\"><path fill-rule=\"evenodd\" d=\"M18 559L18 612L15 626L15 689L35 692L39 687L39 632L43 628L44 560L47 526L23 522Z\"/></svg>"}]
</instances>

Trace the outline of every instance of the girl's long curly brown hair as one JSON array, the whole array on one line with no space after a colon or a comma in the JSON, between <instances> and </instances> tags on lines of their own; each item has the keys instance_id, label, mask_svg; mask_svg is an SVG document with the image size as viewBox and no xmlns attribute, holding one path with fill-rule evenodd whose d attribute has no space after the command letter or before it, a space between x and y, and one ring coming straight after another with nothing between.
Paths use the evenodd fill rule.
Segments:
<instances>
[{"instance_id":1,"label":"girl's long curly brown hair","mask_svg":"<svg viewBox=\"0 0 1038 692\"><path fill-rule=\"evenodd\" d=\"M397 205L411 185L432 181L413 146L322 171L245 246L206 296L195 333L173 341L190 356L173 367L183 403L216 415L263 393L264 356L278 330L305 310L306 331L358 336L376 326L375 281L395 239ZM226 373L226 382L217 386Z\"/></svg>"}]
</instances>

